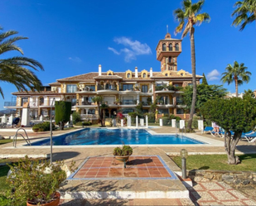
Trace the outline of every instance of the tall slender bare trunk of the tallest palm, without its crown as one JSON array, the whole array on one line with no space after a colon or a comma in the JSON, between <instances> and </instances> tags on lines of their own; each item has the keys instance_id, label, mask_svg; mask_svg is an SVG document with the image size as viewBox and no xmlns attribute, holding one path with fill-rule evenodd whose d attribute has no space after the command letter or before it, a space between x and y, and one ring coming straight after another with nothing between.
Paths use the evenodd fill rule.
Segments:
<instances>
[{"instance_id":1,"label":"tall slender bare trunk of the tallest palm, without its crown","mask_svg":"<svg viewBox=\"0 0 256 206\"><path fill-rule=\"evenodd\" d=\"M187 127L189 130L192 128L193 115L196 108L196 51L195 51L195 38L194 38L194 27L191 27L191 67L192 67L192 84L193 84L193 96L191 103L191 113Z\"/></svg>"}]
</instances>

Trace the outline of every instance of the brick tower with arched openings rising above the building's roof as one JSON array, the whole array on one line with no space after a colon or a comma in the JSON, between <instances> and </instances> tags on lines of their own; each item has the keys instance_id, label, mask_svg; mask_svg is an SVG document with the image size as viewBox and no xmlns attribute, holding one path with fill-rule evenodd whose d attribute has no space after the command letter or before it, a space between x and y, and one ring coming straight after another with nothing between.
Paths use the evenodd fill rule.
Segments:
<instances>
[{"instance_id":1,"label":"brick tower with arched openings rising above the building's roof","mask_svg":"<svg viewBox=\"0 0 256 206\"><path fill-rule=\"evenodd\" d=\"M172 39L167 33L157 45L157 60L161 62L161 71L177 70L177 57L181 54L181 40Z\"/></svg>"}]
</instances>

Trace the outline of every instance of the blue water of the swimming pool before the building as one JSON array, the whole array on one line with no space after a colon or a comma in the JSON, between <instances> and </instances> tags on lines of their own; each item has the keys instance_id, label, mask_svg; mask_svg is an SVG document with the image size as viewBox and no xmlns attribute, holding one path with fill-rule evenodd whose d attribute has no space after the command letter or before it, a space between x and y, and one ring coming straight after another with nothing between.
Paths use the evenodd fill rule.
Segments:
<instances>
[{"instance_id":1,"label":"blue water of the swimming pool before the building","mask_svg":"<svg viewBox=\"0 0 256 206\"><path fill-rule=\"evenodd\" d=\"M191 145L205 144L189 137L174 135L151 135L143 129L96 129L86 128L78 132L53 137L55 146L74 145ZM49 146L50 138L31 143L32 146Z\"/></svg>"}]
</instances>

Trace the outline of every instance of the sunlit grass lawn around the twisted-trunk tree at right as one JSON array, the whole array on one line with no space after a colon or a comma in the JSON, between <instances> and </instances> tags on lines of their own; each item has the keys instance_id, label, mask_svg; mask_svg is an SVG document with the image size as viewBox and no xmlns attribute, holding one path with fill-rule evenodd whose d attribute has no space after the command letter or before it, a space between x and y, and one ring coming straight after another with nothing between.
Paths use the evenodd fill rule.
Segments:
<instances>
[{"instance_id":1,"label":"sunlit grass lawn around the twisted-trunk tree at right","mask_svg":"<svg viewBox=\"0 0 256 206\"><path fill-rule=\"evenodd\" d=\"M181 167L180 156L170 156ZM256 154L239 155L239 165L229 165L226 155L196 155L188 156L186 159L186 170L234 170L234 171L255 171Z\"/></svg>"}]
</instances>

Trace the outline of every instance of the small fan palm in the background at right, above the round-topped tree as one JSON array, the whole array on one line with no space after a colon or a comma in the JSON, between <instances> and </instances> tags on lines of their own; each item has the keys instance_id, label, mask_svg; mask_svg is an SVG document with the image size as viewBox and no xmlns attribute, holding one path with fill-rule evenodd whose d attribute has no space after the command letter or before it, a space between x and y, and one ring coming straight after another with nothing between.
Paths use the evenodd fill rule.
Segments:
<instances>
[{"instance_id":1,"label":"small fan palm in the background at right, above the round-topped tree","mask_svg":"<svg viewBox=\"0 0 256 206\"><path fill-rule=\"evenodd\" d=\"M221 81L223 83L233 83L235 84L235 96L239 96L239 85L244 82L249 83L251 73L246 71L247 67L244 66L244 63L239 63L234 61L234 66L228 65L226 67L226 72L222 73Z\"/></svg>"}]
</instances>

